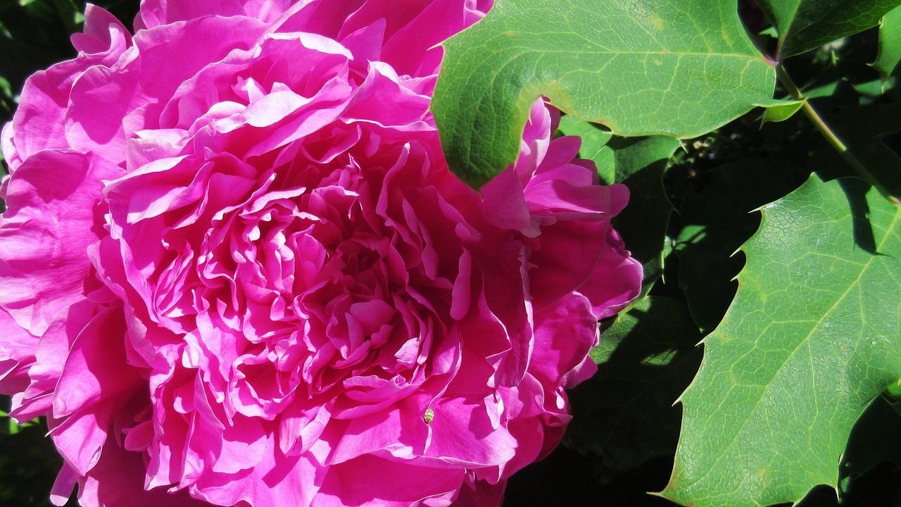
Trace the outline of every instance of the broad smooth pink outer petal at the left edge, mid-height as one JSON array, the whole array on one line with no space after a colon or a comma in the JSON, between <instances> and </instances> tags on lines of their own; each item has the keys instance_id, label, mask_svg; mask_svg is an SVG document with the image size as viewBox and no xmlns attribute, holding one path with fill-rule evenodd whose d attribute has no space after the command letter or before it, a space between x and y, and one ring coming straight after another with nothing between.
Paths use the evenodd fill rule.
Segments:
<instances>
[{"instance_id":1,"label":"broad smooth pink outer petal at the left edge, mid-height","mask_svg":"<svg viewBox=\"0 0 901 507\"><path fill-rule=\"evenodd\" d=\"M86 250L100 233L102 180L120 174L90 155L40 152L8 181L0 223L0 307L35 336L84 299L91 269Z\"/></svg>"}]
</instances>

